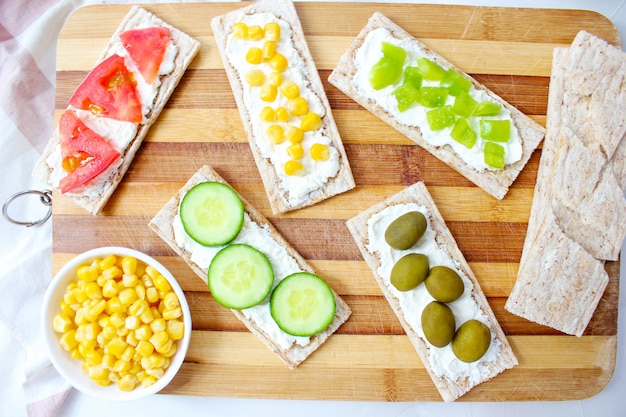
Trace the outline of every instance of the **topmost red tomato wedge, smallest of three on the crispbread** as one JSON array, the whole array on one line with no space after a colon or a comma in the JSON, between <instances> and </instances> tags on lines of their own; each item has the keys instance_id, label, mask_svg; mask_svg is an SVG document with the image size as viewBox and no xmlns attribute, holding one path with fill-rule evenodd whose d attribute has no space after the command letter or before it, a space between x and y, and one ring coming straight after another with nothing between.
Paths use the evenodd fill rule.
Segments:
<instances>
[{"instance_id":1,"label":"topmost red tomato wedge, smallest of three on the crispbread","mask_svg":"<svg viewBox=\"0 0 626 417\"><path fill-rule=\"evenodd\" d=\"M158 26L131 29L121 33L120 39L143 78L152 84L170 43L170 30Z\"/></svg>"}]
</instances>

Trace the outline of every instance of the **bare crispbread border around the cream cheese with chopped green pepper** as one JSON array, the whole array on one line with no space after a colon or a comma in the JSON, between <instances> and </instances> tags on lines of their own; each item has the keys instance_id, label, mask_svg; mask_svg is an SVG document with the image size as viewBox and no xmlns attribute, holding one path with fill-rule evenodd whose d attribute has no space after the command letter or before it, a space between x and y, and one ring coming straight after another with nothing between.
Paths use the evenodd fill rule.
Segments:
<instances>
[{"instance_id":1,"label":"bare crispbread border around the cream cheese with chopped green pepper","mask_svg":"<svg viewBox=\"0 0 626 417\"><path fill-rule=\"evenodd\" d=\"M517 126L520 138L522 140L521 159L511 165L507 165L502 170L477 171L475 168L467 165L450 146L431 145L423 138L422 132L419 127L408 126L406 124L400 123L379 103L365 97L359 91L357 86L353 83L355 74L358 70L355 57L357 51L363 45L367 35L377 28L387 29L391 33L391 35L398 40L409 40L440 65L443 65L447 68L455 68L459 73L465 75L466 78L471 81L471 83L477 90L484 91L496 102L500 103L504 108L509 110L511 112L511 120L515 124L515 126ZM340 89L342 92L344 92L354 101L359 103L361 106L379 117L385 123L389 124L391 127L417 143L419 146L428 150L431 154L439 158L452 169L456 170L497 199L502 199L506 195L509 187L515 181L520 171L524 168L524 166L530 159L531 154L537 148L539 142L541 142L541 139L544 135L544 128L541 125L524 115L518 109L504 101L502 98L487 89L478 81L463 73L451 62L439 56L435 51L422 44L419 40L415 39L408 32L396 25L393 21L391 21L381 13L374 13L370 17L365 27L363 27L359 35L353 41L352 45L340 58L336 68L328 77L328 81L330 81L331 84Z\"/></svg>"}]
</instances>

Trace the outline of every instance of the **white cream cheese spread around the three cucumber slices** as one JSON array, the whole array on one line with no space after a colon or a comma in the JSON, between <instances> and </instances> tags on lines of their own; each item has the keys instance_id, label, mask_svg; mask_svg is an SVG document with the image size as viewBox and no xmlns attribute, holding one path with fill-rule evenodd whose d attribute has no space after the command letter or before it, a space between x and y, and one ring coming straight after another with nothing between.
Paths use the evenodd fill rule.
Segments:
<instances>
[{"instance_id":1,"label":"white cream cheese spread around the three cucumber slices","mask_svg":"<svg viewBox=\"0 0 626 417\"><path fill-rule=\"evenodd\" d=\"M224 247L203 246L193 240L185 232L179 214L175 216L172 227L176 244L191 253L191 261L202 269L208 269L213 257ZM289 254L283 245L272 237L267 226L252 221L248 213L244 215L241 231L231 243L243 243L253 246L267 256L274 270L272 290L283 278L296 272L302 272L296 259ZM278 327L270 313L269 298L270 296L268 295L260 304L240 311L247 319L256 323L281 349L289 349L294 345L308 345L311 341L309 337L292 336ZM305 356L303 355L302 359Z\"/></svg>"}]
</instances>

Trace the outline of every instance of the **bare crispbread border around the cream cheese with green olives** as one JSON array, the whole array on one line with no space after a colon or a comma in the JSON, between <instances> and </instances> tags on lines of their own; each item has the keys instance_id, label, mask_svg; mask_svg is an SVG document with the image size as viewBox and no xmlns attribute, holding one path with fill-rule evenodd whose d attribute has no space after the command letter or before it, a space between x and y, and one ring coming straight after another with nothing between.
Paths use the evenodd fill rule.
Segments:
<instances>
[{"instance_id":1,"label":"bare crispbread border around the cream cheese with green olives","mask_svg":"<svg viewBox=\"0 0 626 417\"><path fill-rule=\"evenodd\" d=\"M422 336L420 336L418 330L409 324L405 317L405 314L409 313L403 310L399 299L393 294L388 286L389 278L381 276L381 273L379 272L379 268L381 267L381 259L379 255L371 252L369 249L370 237L368 225L372 216L382 212L388 207L406 203L416 203L419 206L426 208L428 213L428 227L434 231L435 241L439 247L449 255L453 264L469 279L472 285L469 297L475 301L481 313L487 318L488 325L491 328L492 333L492 346L490 349L493 348L497 350L495 351L496 355L494 360L487 360L486 355L475 363L477 370L482 369L482 375L478 380L471 380L471 378L464 376L453 378L437 373L431 364L432 358L430 356L437 355L438 348L431 346L424 338L422 338ZM380 286L385 298L389 302L389 305L398 317L404 331L415 347L415 350L422 360L424 367L428 371L444 401L454 401L470 391L476 385L487 381L504 370L513 368L518 364L513 349L511 348L504 332L502 331L502 328L493 314L493 311L491 310L489 303L480 288L478 280L465 260L463 254L459 250L454 237L446 226L444 219L441 217L441 214L439 213L439 210L437 209L424 183L418 182L387 198L385 201L368 208L359 215L349 219L347 221L347 226L359 250L361 251L365 262L371 268L376 282ZM431 267L432 266L435 265L431 265ZM421 312L416 314L421 314ZM461 323L457 323L457 327L460 324ZM450 349L450 346L447 346L444 349ZM460 361L458 362L461 363Z\"/></svg>"}]
</instances>

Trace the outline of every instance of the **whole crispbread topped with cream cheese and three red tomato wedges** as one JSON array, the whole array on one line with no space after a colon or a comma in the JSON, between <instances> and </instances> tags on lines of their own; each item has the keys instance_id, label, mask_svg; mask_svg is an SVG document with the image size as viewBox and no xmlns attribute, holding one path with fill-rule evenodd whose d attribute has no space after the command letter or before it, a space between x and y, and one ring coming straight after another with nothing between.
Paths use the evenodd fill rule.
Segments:
<instances>
[{"instance_id":1,"label":"whole crispbread topped with cream cheese and three red tomato wedges","mask_svg":"<svg viewBox=\"0 0 626 417\"><path fill-rule=\"evenodd\" d=\"M199 49L133 6L70 98L34 175L99 214Z\"/></svg>"}]
</instances>

